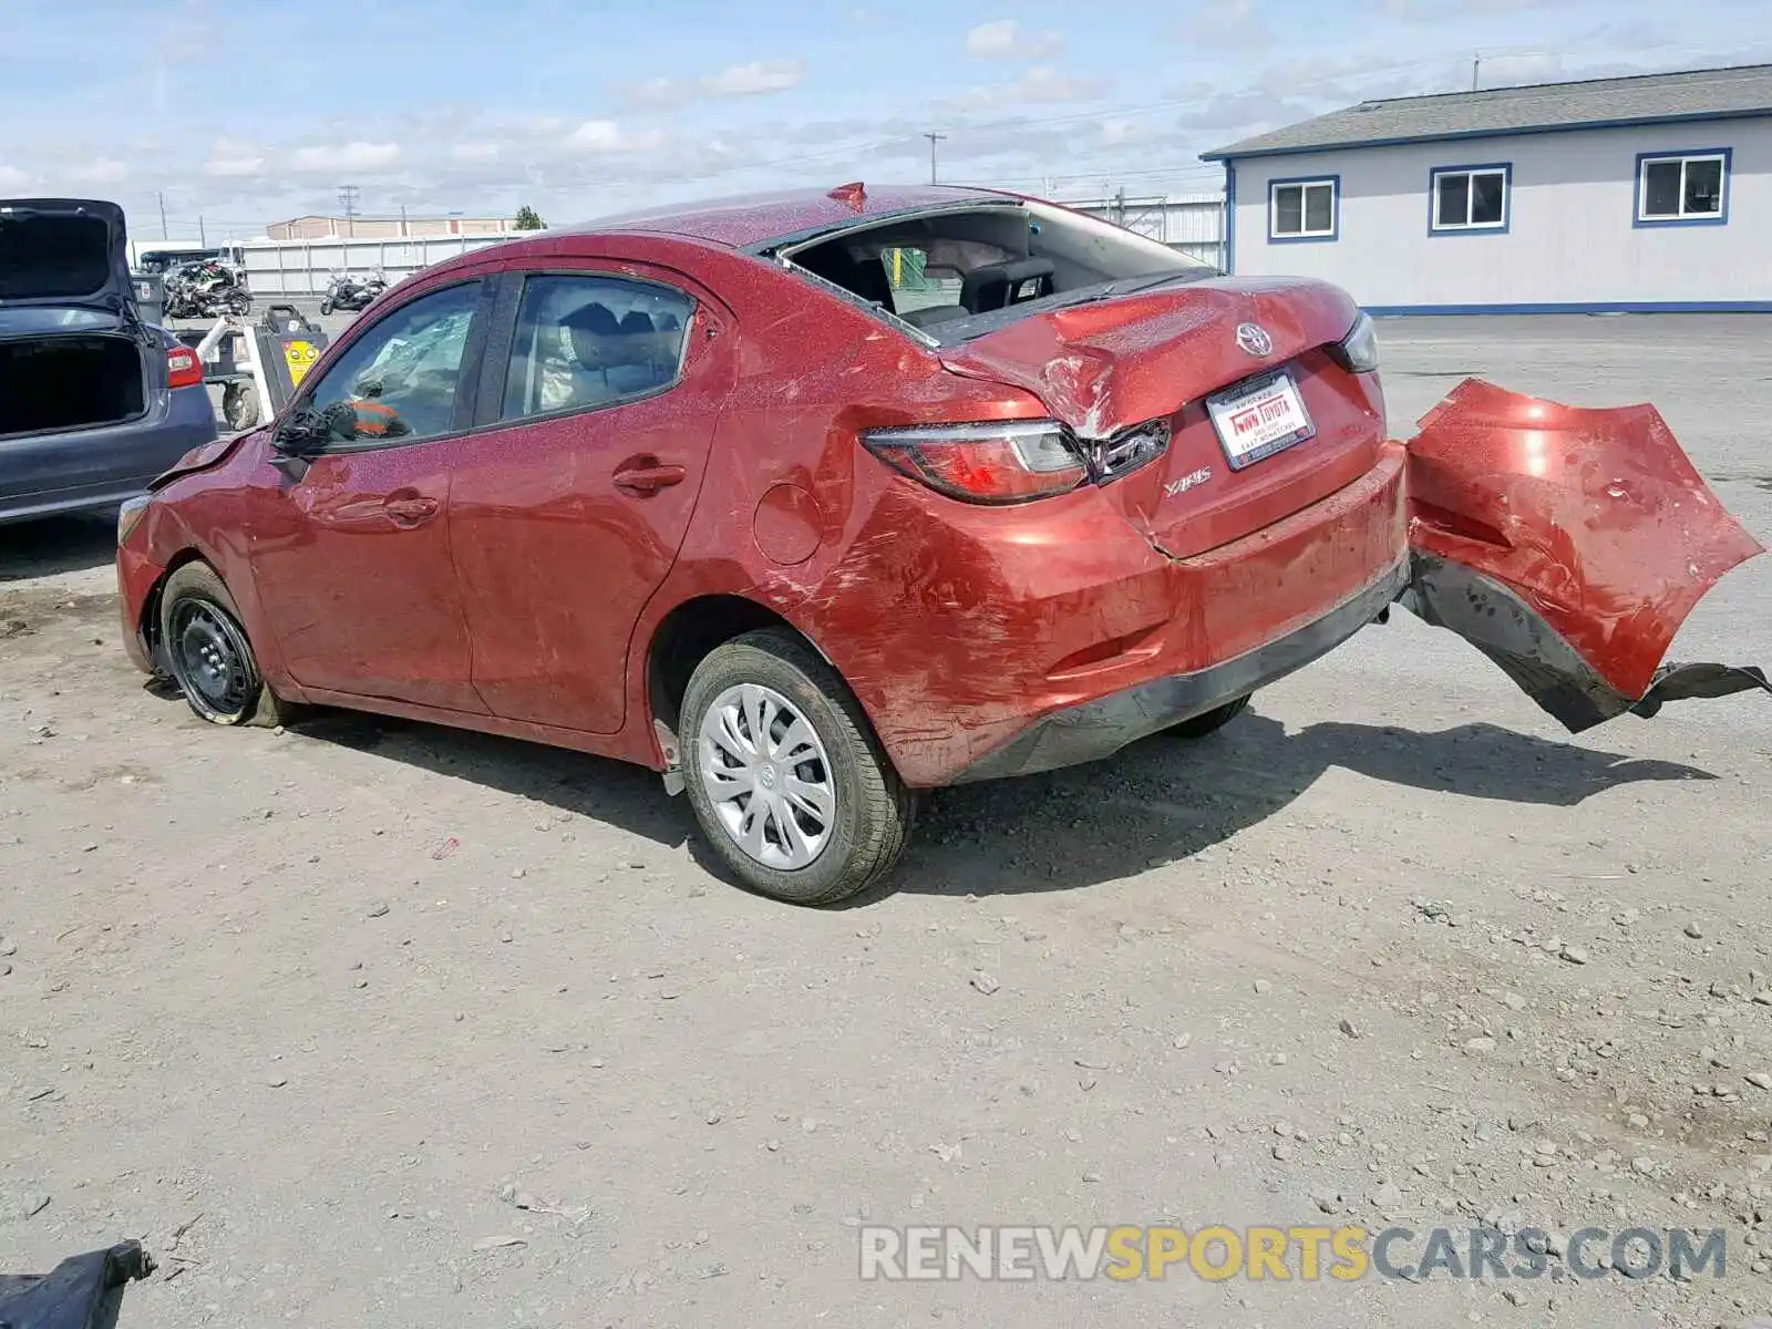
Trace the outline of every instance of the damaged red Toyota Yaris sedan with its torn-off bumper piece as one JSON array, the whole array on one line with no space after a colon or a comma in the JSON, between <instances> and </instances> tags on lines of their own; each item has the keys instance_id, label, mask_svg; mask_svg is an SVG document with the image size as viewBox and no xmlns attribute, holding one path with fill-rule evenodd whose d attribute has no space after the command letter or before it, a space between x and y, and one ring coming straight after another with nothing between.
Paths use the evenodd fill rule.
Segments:
<instances>
[{"instance_id":1,"label":"damaged red Toyota Yaris sedan with its torn-off bumper piece","mask_svg":"<svg viewBox=\"0 0 1772 1329\"><path fill-rule=\"evenodd\" d=\"M920 794L1201 735L1400 597L1572 730L1760 546L1648 408L1465 385L1391 441L1341 291L957 188L744 198L425 269L120 516L135 661L640 762L748 886Z\"/></svg>"}]
</instances>

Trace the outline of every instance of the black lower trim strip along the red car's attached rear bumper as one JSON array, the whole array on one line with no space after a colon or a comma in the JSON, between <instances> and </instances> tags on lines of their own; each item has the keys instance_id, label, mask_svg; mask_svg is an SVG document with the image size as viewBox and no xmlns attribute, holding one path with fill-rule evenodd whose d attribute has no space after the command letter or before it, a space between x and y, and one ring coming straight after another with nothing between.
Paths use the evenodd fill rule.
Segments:
<instances>
[{"instance_id":1,"label":"black lower trim strip along the red car's attached rear bumper","mask_svg":"<svg viewBox=\"0 0 1772 1329\"><path fill-rule=\"evenodd\" d=\"M1382 615L1407 585L1409 563L1398 563L1322 618L1235 659L1045 714L962 771L955 783L1058 771L1113 757L1129 742L1235 702L1325 656Z\"/></svg>"}]
</instances>

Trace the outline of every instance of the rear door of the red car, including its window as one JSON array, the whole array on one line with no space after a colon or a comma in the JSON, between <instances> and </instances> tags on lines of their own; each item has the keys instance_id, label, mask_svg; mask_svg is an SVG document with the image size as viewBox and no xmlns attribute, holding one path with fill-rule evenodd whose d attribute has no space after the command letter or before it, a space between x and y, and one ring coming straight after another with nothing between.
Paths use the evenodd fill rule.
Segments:
<instances>
[{"instance_id":1,"label":"rear door of the red car, including its window","mask_svg":"<svg viewBox=\"0 0 1772 1329\"><path fill-rule=\"evenodd\" d=\"M503 276L450 549L493 714L613 734L629 638L695 510L732 338L730 314L684 276L585 264Z\"/></svg>"}]
</instances>

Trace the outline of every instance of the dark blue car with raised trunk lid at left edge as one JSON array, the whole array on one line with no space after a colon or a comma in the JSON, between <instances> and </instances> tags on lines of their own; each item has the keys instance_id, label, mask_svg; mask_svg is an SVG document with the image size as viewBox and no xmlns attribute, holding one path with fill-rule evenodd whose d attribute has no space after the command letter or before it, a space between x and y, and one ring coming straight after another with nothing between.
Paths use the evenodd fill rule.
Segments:
<instances>
[{"instance_id":1,"label":"dark blue car with raised trunk lid at left edge","mask_svg":"<svg viewBox=\"0 0 1772 1329\"><path fill-rule=\"evenodd\" d=\"M142 319L122 209L0 202L0 521L115 507L214 438L197 353Z\"/></svg>"}]
</instances>

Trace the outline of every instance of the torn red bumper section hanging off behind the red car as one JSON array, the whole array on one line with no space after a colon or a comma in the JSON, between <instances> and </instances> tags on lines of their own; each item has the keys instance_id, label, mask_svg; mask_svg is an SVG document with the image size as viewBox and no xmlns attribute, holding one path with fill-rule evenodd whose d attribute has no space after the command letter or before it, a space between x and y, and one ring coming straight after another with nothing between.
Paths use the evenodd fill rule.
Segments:
<instances>
[{"instance_id":1,"label":"torn red bumper section hanging off behind the red car","mask_svg":"<svg viewBox=\"0 0 1772 1329\"><path fill-rule=\"evenodd\" d=\"M1467 379L1409 448L1402 602L1464 636L1570 732L1758 668L1662 664L1680 624L1765 553L1653 406L1582 409Z\"/></svg>"}]
</instances>

